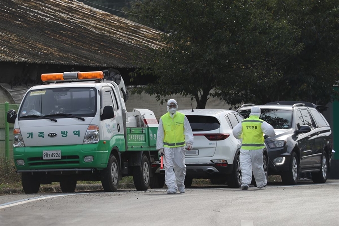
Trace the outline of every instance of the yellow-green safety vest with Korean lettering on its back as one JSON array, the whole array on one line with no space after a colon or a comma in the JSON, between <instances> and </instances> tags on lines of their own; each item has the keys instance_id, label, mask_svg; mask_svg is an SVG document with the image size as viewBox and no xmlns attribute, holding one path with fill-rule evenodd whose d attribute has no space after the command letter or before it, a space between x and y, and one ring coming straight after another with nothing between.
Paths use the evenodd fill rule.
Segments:
<instances>
[{"instance_id":1,"label":"yellow-green safety vest with Korean lettering on its back","mask_svg":"<svg viewBox=\"0 0 339 226\"><path fill-rule=\"evenodd\" d=\"M242 125L242 145L245 150L257 150L265 147L264 133L261 125L264 121L258 116L250 116L241 121Z\"/></svg>"}]
</instances>

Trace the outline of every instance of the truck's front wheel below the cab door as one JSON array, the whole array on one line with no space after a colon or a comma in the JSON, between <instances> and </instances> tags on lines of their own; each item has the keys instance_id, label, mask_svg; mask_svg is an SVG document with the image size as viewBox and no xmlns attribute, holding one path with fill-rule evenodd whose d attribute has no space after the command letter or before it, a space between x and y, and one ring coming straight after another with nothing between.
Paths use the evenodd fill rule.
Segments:
<instances>
[{"instance_id":1,"label":"truck's front wheel below the cab door","mask_svg":"<svg viewBox=\"0 0 339 226\"><path fill-rule=\"evenodd\" d=\"M110 155L107 167L101 172L101 184L105 192L116 192L118 190L120 170L117 158Z\"/></svg>"}]
</instances>

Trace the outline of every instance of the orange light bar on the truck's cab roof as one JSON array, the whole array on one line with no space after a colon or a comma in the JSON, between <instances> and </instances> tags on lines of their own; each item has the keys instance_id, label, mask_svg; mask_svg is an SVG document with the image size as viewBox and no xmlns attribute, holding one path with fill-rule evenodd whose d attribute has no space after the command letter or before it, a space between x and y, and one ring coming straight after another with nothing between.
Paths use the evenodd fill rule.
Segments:
<instances>
[{"instance_id":1,"label":"orange light bar on the truck's cab roof","mask_svg":"<svg viewBox=\"0 0 339 226\"><path fill-rule=\"evenodd\" d=\"M65 72L42 74L41 80L45 81L63 81L63 80L82 80L82 79L103 79L104 73L102 71L89 72Z\"/></svg>"}]
</instances>

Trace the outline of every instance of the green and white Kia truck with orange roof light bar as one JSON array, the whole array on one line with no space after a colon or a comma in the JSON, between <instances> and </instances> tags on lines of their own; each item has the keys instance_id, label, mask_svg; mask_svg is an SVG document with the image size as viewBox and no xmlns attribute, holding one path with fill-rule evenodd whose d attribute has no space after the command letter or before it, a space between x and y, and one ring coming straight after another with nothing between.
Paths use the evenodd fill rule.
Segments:
<instances>
[{"instance_id":1,"label":"green and white Kia truck with orange roof light bar","mask_svg":"<svg viewBox=\"0 0 339 226\"><path fill-rule=\"evenodd\" d=\"M158 121L148 109L125 107L126 89L105 79L108 70L42 74L30 88L14 123L14 162L25 193L59 182L74 192L77 181L101 181L105 192L133 176L137 190L163 187L156 150ZM157 173L156 173L157 171Z\"/></svg>"}]
</instances>

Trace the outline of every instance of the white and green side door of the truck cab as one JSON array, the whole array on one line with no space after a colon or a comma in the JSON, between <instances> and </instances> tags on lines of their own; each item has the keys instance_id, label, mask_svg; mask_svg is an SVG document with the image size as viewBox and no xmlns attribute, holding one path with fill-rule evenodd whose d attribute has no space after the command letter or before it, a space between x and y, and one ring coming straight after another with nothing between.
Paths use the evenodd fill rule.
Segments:
<instances>
[{"instance_id":1,"label":"white and green side door of the truck cab","mask_svg":"<svg viewBox=\"0 0 339 226\"><path fill-rule=\"evenodd\" d=\"M112 87L106 86L101 89L101 104L100 113L105 106L112 106L114 117L101 121L103 140L110 142L114 139L114 145L117 147L124 146L124 128L121 107L117 101L117 94Z\"/></svg>"}]
</instances>

